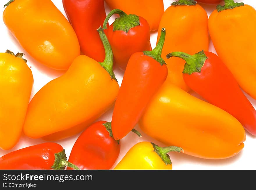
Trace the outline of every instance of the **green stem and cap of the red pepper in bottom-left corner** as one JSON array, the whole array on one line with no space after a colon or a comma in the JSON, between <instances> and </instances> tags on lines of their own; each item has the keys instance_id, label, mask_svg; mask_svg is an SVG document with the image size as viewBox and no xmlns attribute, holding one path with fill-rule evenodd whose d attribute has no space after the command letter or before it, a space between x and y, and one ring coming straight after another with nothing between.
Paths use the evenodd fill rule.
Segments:
<instances>
[{"instance_id":1,"label":"green stem and cap of the red pepper in bottom-left corner","mask_svg":"<svg viewBox=\"0 0 256 190\"><path fill-rule=\"evenodd\" d=\"M65 167L70 167L75 170L79 170L79 168L76 165L67 161L67 156L66 156L64 149L63 149L63 151L61 151L59 153L55 153L54 156L55 156L55 161L51 167L52 169L63 170L63 169L65 169Z\"/></svg>"}]
</instances>

